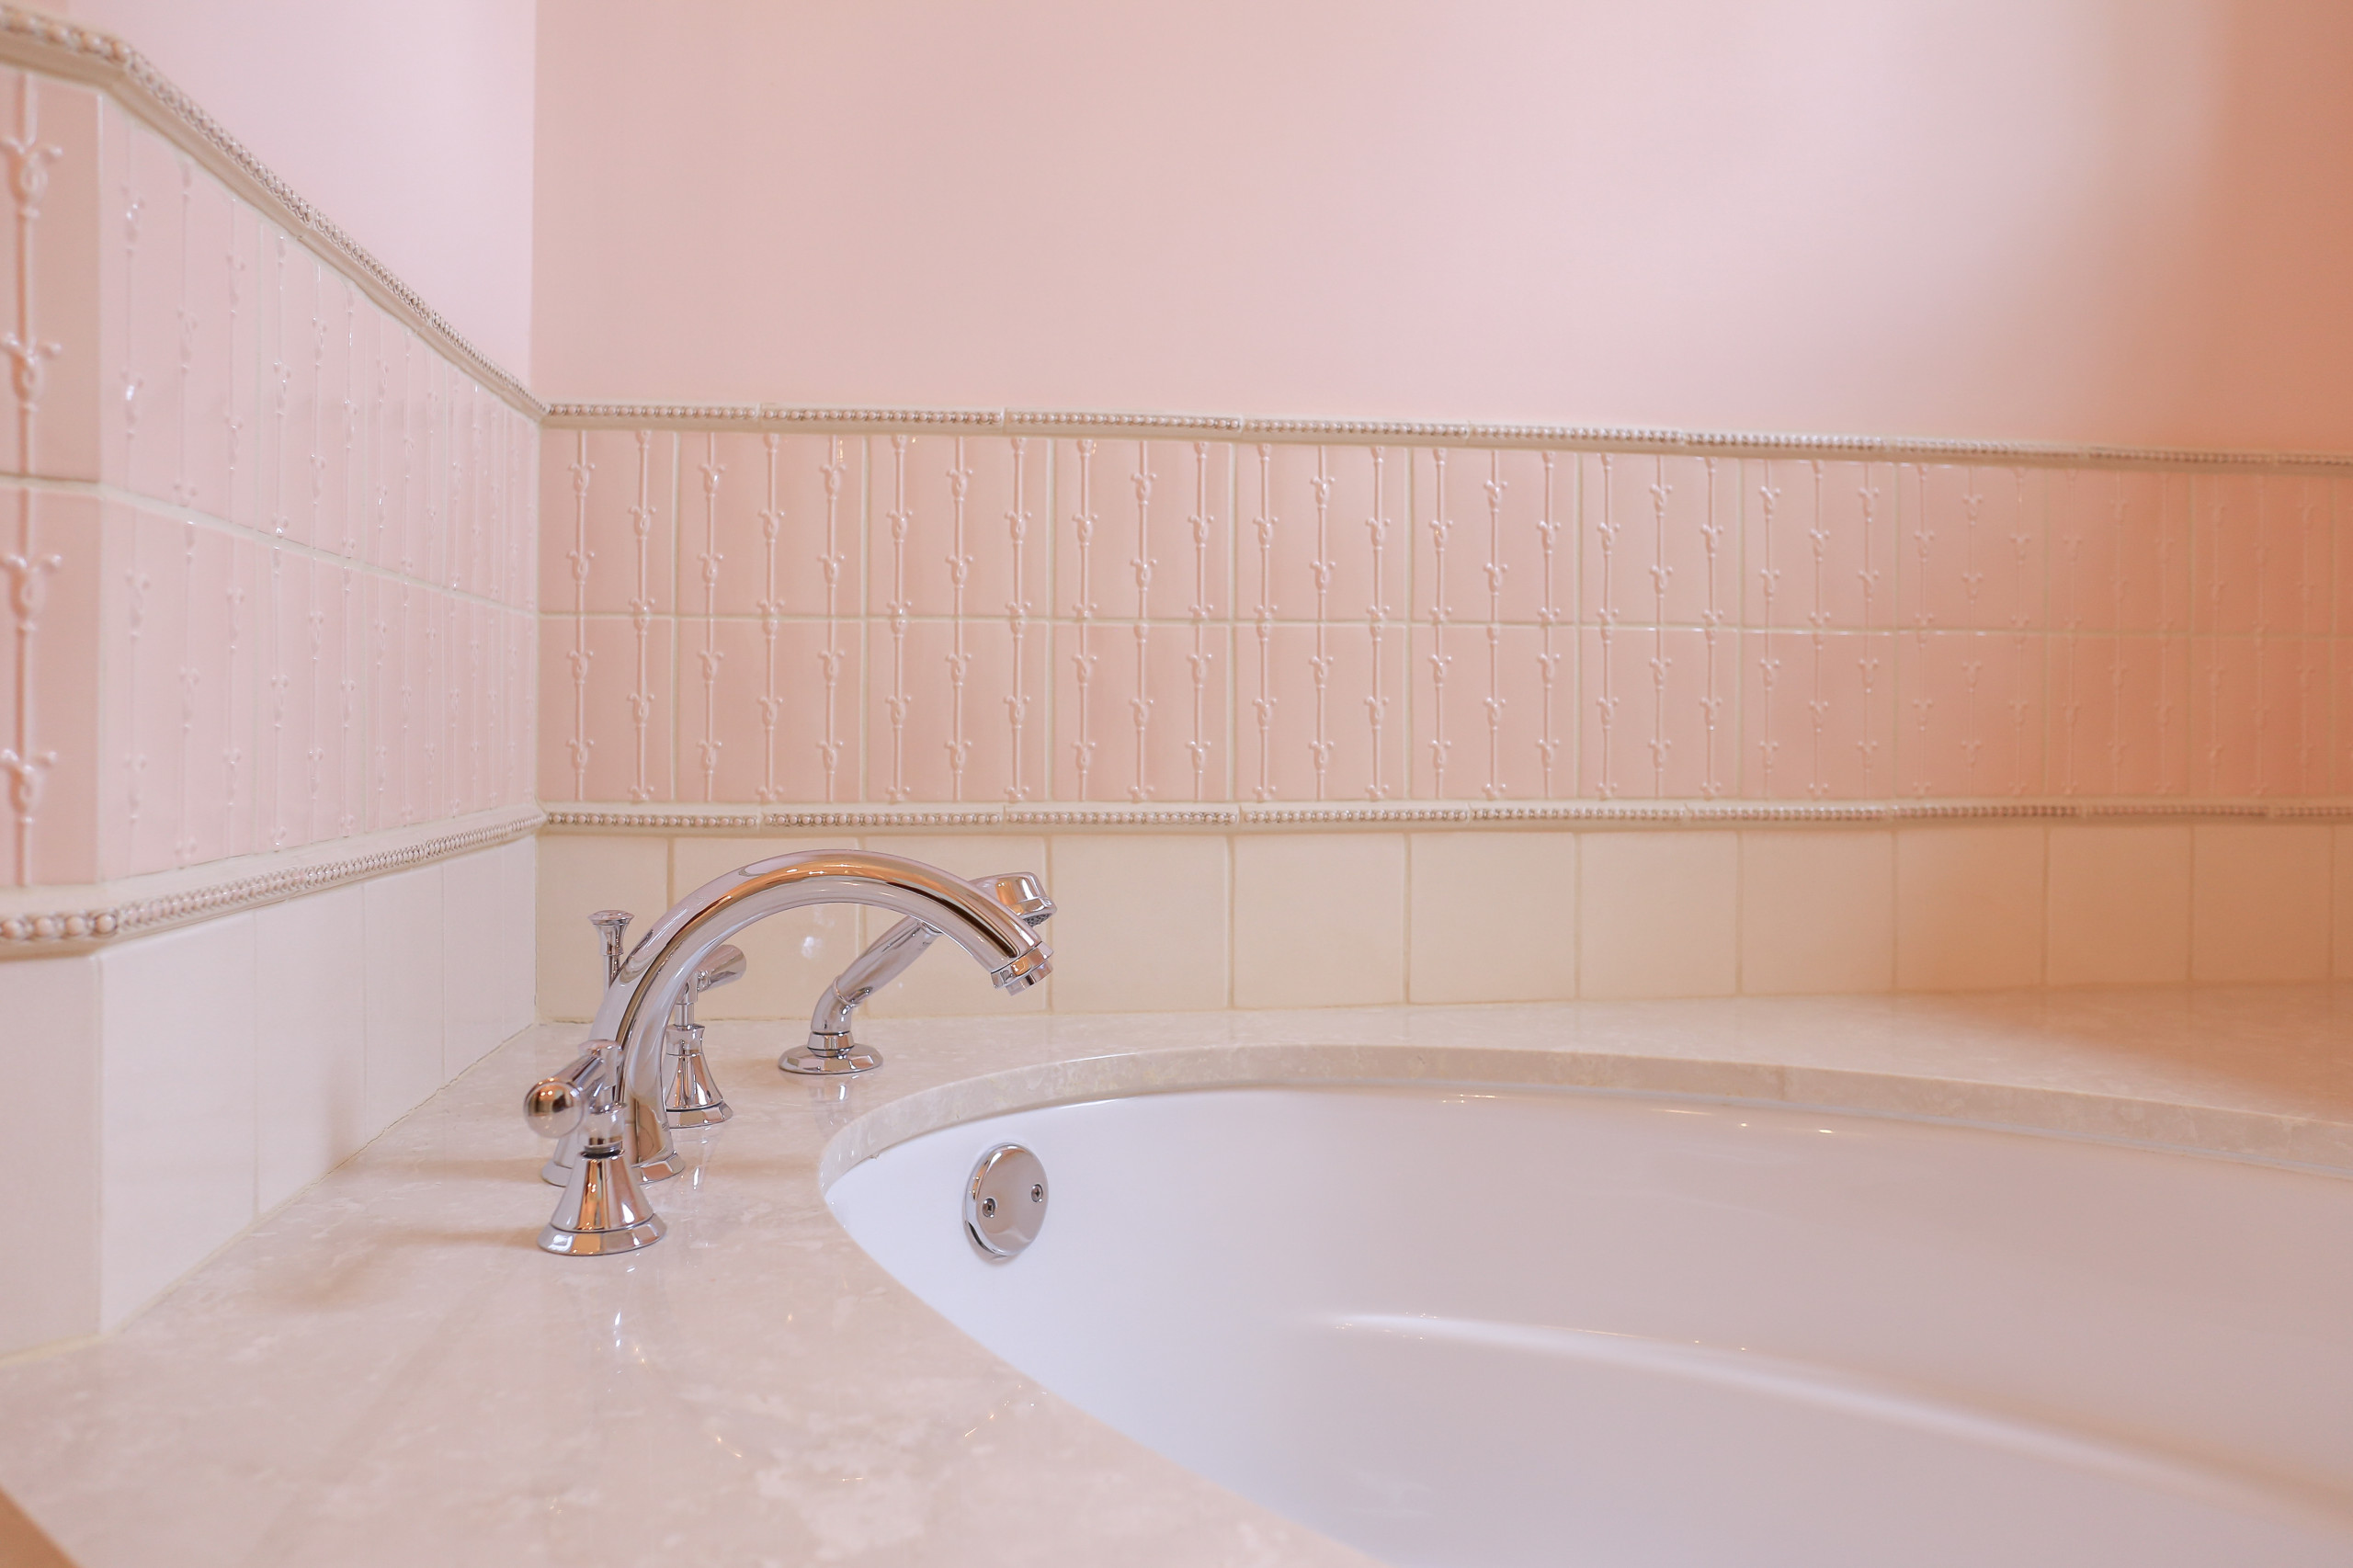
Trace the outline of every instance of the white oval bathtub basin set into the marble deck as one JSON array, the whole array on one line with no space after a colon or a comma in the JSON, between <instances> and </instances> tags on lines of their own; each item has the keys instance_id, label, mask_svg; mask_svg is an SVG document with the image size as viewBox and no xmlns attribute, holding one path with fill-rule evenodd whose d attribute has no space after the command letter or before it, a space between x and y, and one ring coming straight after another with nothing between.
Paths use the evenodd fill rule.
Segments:
<instances>
[{"instance_id":1,"label":"white oval bathtub basin set into the marble deck","mask_svg":"<svg viewBox=\"0 0 2353 1568\"><path fill-rule=\"evenodd\" d=\"M962 1231L1038 1151L1038 1241ZM995 1354L1393 1563L2353 1563L2353 1180L1786 1107L1242 1088L828 1194Z\"/></svg>"}]
</instances>

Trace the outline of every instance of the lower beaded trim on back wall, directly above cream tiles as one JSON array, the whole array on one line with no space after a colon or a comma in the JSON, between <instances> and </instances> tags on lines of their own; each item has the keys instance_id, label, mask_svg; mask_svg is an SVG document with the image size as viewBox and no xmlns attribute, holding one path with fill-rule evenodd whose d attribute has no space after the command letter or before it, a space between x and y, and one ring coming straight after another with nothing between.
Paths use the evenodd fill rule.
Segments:
<instances>
[{"instance_id":1,"label":"lower beaded trim on back wall, directly above cream tiles","mask_svg":"<svg viewBox=\"0 0 2353 1568\"><path fill-rule=\"evenodd\" d=\"M779 833L849 829L1327 829L1400 826L1835 826L1899 822L2353 822L2337 800L1398 800L1365 805L859 805L805 810L649 810L548 805L546 826L624 833Z\"/></svg>"}]
</instances>

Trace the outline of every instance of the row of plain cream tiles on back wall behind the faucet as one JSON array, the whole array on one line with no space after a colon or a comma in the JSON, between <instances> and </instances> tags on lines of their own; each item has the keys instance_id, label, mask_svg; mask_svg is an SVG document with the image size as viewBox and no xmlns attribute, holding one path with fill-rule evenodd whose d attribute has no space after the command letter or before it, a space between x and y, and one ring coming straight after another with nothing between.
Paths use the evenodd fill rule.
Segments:
<instances>
[{"instance_id":1,"label":"row of plain cream tiles on back wall behind the faucet","mask_svg":"<svg viewBox=\"0 0 2353 1568\"><path fill-rule=\"evenodd\" d=\"M998 996L941 944L875 1017L2353 979L2353 826L2329 822L555 826L539 838L541 1012L595 1008L588 911L649 918L744 862L849 843L965 876L1042 871L1059 906L1042 986ZM704 1012L802 1019L887 923L772 916L736 937L751 975Z\"/></svg>"}]
</instances>

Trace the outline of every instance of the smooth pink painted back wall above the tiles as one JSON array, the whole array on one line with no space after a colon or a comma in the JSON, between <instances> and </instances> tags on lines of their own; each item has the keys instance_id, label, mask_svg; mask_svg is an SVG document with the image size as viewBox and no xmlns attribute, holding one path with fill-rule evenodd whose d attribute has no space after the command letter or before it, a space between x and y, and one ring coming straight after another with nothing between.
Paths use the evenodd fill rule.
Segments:
<instances>
[{"instance_id":1,"label":"smooth pink painted back wall above the tiles","mask_svg":"<svg viewBox=\"0 0 2353 1568\"><path fill-rule=\"evenodd\" d=\"M2329 0L567 0L532 379L2348 447L2348 71Z\"/></svg>"}]
</instances>

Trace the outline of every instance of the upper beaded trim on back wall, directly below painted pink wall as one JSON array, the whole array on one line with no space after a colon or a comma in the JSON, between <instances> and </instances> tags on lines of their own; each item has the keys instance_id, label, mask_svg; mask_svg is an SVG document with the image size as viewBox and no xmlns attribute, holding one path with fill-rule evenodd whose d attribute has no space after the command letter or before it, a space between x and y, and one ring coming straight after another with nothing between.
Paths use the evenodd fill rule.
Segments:
<instances>
[{"instance_id":1,"label":"upper beaded trim on back wall, directly below painted pink wall","mask_svg":"<svg viewBox=\"0 0 2353 1568\"><path fill-rule=\"evenodd\" d=\"M2233 471L2339 471L2353 452L2238 452L2111 447L2042 440L1948 440L1937 436L1805 436L1784 431L1682 431L1602 424L1471 424L1417 419L1259 419L1247 414L1122 414L1012 407L798 407L784 403L548 403L548 428L751 428L751 431L958 431L998 436L1162 436L1271 443L1445 443L1553 452L1668 457L1788 457L1845 461L1965 461L1988 466L2162 466Z\"/></svg>"}]
</instances>

